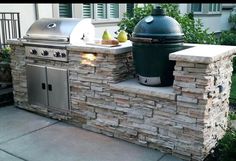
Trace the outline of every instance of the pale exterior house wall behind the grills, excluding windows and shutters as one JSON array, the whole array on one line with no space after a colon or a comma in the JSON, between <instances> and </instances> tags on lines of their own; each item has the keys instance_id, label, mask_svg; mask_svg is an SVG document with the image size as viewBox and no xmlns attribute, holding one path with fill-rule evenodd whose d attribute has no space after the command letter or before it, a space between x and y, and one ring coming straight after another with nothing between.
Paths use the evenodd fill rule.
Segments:
<instances>
[{"instance_id":1,"label":"pale exterior house wall behind the grills, excluding windows and shutters","mask_svg":"<svg viewBox=\"0 0 236 161\"><path fill-rule=\"evenodd\" d=\"M143 4L138 4L139 7L142 7ZM235 4L223 4L224 7L236 6ZM21 35L24 36L30 25L37 19L37 18L50 18L50 17L59 17L59 5L58 3L5 3L0 4L1 12L19 12L20 13L20 24L21 24ZM206 8L206 7L205 7ZM189 12L190 3L180 3L179 9L182 14ZM126 11L126 4L120 4L120 16ZM222 30L230 29L230 25L228 23L228 16L230 11L224 10L221 14L218 15L207 15L207 14L200 14L196 15L196 18L202 19L205 28L209 28L210 32L220 32ZM82 4L81 3L74 3L72 7L72 14L74 18L81 18L82 17ZM119 20L116 21L104 21L98 22L93 21L96 29L95 34L97 38L100 38L103 31L105 29L109 30L113 37L116 36L114 32L116 32L119 27L117 23Z\"/></svg>"}]
</instances>

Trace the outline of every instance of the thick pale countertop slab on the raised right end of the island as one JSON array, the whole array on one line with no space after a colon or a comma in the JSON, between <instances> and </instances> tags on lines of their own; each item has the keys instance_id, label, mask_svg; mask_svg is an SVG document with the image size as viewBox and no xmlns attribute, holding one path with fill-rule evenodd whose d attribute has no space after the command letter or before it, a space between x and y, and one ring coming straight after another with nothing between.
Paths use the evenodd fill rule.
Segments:
<instances>
[{"instance_id":1,"label":"thick pale countertop slab on the raised right end of the island","mask_svg":"<svg viewBox=\"0 0 236 161\"><path fill-rule=\"evenodd\" d=\"M185 45L185 44L184 44ZM191 45L191 44L190 44ZM193 47L169 55L170 60L209 64L236 54L236 46L192 44Z\"/></svg>"}]
</instances>

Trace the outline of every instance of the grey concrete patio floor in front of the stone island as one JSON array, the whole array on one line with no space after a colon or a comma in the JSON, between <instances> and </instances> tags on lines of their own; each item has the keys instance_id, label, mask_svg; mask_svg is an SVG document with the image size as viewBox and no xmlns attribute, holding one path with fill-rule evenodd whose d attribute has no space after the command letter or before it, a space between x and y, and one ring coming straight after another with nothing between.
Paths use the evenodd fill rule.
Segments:
<instances>
[{"instance_id":1,"label":"grey concrete patio floor in front of the stone island","mask_svg":"<svg viewBox=\"0 0 236 161\"><path fill-rule=\"evenodd\" d=\"M182 161L28 111L0 108L0 161Z\"/></svg>"}]
</instances>

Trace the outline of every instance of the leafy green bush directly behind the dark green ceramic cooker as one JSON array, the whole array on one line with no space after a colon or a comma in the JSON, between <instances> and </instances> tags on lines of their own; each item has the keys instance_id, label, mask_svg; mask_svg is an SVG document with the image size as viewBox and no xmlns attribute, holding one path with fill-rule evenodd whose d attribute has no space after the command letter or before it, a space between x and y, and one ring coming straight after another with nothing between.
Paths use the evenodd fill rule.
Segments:
<instances>
[{"instance_id":1,"label":"leafy green bush directly behind the dark green ceramic cooker","mask_svg":"<svg viewBox=\"0 0 236 161\"><path fill-rule=\"evenodd\" d=\"M161 4L161 7L165 10L166 15L173 17L180 23L183 29L185 42L202 44L217 43L214 33L208 33L208 29L203 29L201 20L194 20L192 13L181 15L176 4ZM131 35L136 24L144 17L150 15L153 8L154 7L151 4L144 7L135 7L133 17L125 13L124 18L118 24L120 27L119 30L125 30L129 35Z\"/></svg>"}]
</instances>

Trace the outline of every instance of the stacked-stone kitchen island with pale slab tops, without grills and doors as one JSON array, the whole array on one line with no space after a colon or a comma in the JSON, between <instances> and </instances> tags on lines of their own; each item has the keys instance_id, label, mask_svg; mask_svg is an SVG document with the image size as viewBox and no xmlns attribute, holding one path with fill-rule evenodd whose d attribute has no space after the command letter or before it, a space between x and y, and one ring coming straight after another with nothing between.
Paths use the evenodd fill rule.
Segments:
<instances>
[{"instance_id":1,"label":"stacked-stone kitchen island with pale slab tops, without grills and doors","mask_svg":"<svg viewBox=\"0 0 236 161\"><path fill-rule=\"evenodd\" d=\"M67 45L68 62L27 57L23 40L8 43L19 108L185 160L203 160L227 127L236 47L184 44L189 48L169 56L176 61L173 86L148 87L134 78L130 42L118 47ZM68 72L67 110L29 104L27 64Z\"/></svg>"}]
</instances>

